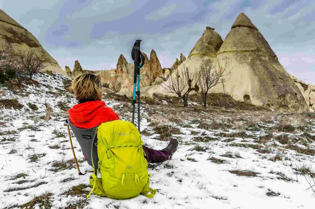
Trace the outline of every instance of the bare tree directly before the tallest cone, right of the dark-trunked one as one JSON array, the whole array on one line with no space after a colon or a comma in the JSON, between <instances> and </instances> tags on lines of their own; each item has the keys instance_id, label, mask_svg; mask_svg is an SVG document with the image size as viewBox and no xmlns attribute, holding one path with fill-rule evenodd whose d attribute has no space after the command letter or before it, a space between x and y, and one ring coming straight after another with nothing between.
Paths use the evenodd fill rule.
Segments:
<instances>
[{"instance_id":1,"label":"bare tree directly before the tallest cone, right of the dark-trunked one","mask_svg":"<svg viewBox=\"0 0 315 209\"><path fill-rule=\"evenodd\" d=\"M216 70L216 63L213 60L203 60L200 64L198 71L198 83L200 86L200 94L203 99L203 106L207 108L207 94L209 90L219 83L224 83L226 81L226 76L231 72L226 72L227 62L224 67L219 67L219 70Z\"/></svg>"}]
</instances>

